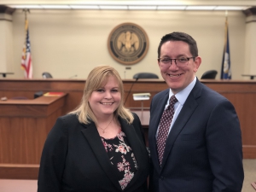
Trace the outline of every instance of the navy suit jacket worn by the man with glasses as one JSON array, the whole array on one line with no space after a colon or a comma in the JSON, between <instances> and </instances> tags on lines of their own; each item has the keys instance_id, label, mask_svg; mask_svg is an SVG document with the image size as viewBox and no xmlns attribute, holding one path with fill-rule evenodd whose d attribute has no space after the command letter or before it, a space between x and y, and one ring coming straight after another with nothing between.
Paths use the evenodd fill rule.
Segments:
<instances>
[{"instance_id":1,"label":"navy suit jacket worn by the man with glasses","mask_svg":"<svg viewBox=\"0 0 256 192\"><path fill-rule=\"evenodd\" d=\"M168 96L169 89L161 91L150 108L150 191L241 192L241 129L235 108L198 79L167 137L159 166L155 134Z\"/></svg>"}]
</instances>

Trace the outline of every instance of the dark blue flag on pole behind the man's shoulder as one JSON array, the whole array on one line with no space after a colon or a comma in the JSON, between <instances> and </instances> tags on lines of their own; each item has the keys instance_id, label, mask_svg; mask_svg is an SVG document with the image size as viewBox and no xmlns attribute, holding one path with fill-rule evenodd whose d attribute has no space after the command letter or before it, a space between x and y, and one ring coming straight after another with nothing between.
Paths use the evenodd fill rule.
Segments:
<instances>
[{"instance_id":1,"label":"dark blue flag on pole behind the man's shoulder","mask_svg":"<svg viewBox=\"0 0 256 192\"><path fill-rule=\"evenodd\" d=\"M220 79L231 79L231 66L230 66L230 41L229 41L229 24L228 17L225 21L225 40L224 40L224 52L221 66Z\"/></svg>"}]
</instances>

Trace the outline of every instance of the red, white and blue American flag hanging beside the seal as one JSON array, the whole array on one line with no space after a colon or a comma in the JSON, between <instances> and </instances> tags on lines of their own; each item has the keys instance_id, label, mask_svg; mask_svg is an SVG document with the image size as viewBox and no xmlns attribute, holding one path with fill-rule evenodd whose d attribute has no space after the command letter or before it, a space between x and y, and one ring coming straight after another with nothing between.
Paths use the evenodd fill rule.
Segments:
<instances>
[{"instance_id":1,"label":"red, white and blue American flag hanging beside the seal","mask_svg":"<svg viewBox=\"0 0 256 192\"><path fill-rule=\"evenodd\" d=\"M25 20L25 31L26 31L26 40L23 46L23 51L22 51L21 67L24 70L25 79L32 79L32 58L31 58L30 40L29 40L29 32L28 32L28 20Z\"/></svg>"}]
</instances>

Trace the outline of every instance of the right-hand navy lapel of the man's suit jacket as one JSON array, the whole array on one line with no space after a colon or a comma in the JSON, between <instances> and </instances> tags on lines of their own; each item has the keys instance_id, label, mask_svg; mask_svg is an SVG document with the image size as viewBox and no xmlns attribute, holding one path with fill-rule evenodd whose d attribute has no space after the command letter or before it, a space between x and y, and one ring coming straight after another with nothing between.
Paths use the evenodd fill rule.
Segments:
<instances>
[{"instance_id":1,"label":"right-hand navy lapel of the man's suit jacket","mask_svg":"<svg viewBox=\"0 0 256 192\"><path fill-rule=\"evenodd\" d=\"M186 125L190 116L195 111L195 108L197 108L198 103L196 102L196 98L200 95L201 95L201 83L198 82L197 80L195 87L193 88L193 90L191 90L186 102L183 105L182 110L177 116L177 119L174 125L172 125L172 130L170 131L169 136L166 139L166 148L165 148L165 152L162 160L161 170L165 166L167 157L172 151L173 143L175 142L177 136L183 130L184 125Z\"/></svg>"}]
</instances>

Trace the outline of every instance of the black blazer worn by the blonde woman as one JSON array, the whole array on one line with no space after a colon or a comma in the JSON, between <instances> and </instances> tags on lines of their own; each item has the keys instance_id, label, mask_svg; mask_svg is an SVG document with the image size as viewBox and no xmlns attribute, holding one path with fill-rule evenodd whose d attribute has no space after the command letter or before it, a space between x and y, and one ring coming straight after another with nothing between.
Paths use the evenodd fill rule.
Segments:
<instances>
[{"instance_id":1,"label":"black blazer worn by the blonde woman","mask_svg":"<svg viewBox=\"0 0 256 192\"><path fill-rule=\"evenodd\" d=\"M147 191L149 157L137 115L131 125L119 122L137 160L138 170L124 191ZM96 130L82 125L75 114L58 118L44 144L38 192L122 191L115 170Z\"/></svg>"}]
</instances>

